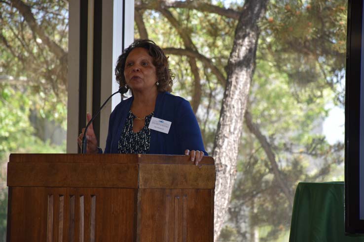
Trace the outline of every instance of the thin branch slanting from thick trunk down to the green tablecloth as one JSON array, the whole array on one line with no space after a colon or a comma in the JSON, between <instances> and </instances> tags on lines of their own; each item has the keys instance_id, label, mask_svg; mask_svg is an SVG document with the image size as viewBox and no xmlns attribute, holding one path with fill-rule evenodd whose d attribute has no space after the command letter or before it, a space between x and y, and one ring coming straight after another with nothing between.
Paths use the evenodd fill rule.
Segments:
<instances>
[{"instance_id":1,"label":"thin branch slanting from thick trunk down to the green tablecloth","mask_svg":"<svg viewBox=\"0 0 364 242\"><path fill-rule=\"evenodd\" d=\"M292 206L293 199L291 194L291 188L287 185L285 181L283 181L281 177L281 171L279 170L278 164L276 162L275 154L272 151L271 146L267 141L267 138L260 132L259 126L253 122L252 115L248 110L245 111L244 118L249 131L255 135L260 145L262 146L263 150L265 151L265 154L267 155L268 160L270 162L274 177L277 179L279 186L281 187L283 193L285 194L288 201L290 202L290 205Z\"/></svg>"}]
</instances>

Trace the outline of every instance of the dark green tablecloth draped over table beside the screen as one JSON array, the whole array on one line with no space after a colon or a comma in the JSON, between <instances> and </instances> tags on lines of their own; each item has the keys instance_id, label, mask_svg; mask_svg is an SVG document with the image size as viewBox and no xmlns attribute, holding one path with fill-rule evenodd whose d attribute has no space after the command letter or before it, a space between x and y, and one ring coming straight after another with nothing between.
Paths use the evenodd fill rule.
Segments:
<instances>
[{"instance_id":1,"label":"dark green tablecloth draped over table beside the screen","mask_svg":"<svg viewBox=\"0 0 364 242\"><path fill-rule=\"evenodd\" d=\"M364 242L344 234L344 182L298 183L290 242Z\"/></svg>"}]
</instances>

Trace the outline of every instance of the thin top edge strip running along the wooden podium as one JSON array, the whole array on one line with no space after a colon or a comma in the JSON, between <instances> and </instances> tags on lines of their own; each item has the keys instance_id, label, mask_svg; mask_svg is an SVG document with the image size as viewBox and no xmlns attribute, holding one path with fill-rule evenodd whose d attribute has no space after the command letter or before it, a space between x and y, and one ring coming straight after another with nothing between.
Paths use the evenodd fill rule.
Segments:
<instances>
[{"instance_id":1,"label":"thin top edge strip running along the wooden podium","mask_svg":"<svg viewBox=\"0 0 364 242\"><path fill-rule=\"evenodd\" d=\"M66 154L11 153L9 162L76 162L76 163L149 163L193 165L187 155L166 154ZM204 156L201 165L215 165L211 156Z\"/></svg>"}]
</instances>

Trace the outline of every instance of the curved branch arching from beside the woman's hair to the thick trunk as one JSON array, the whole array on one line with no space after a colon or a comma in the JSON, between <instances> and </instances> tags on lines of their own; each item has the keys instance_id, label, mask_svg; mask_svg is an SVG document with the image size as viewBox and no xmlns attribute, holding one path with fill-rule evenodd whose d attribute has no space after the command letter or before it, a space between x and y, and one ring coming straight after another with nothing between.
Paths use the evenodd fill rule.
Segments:
<instances>
[{"instance_id":1,"label":"curved branch arching from beside the woman's hair to the thick trunk","mask_svg":"<svg viewBox=\"0 0 364 242\"><path fill-rule=\"evenodd\" d=\"M170 55L176 55L176 56L188 56L188 57L194 57L200 60L206 67L211 69L211 72L218 78L218 81L221 83L221 85L224 87L226 85L226 79L224 75L220 72L218 67L214 65L212 60L205 57L204 55L200 54L197 51L190 50L190 49L182 49L182 48L163 48L163 51L166 54Z\"/></svg>"}]
</instances>

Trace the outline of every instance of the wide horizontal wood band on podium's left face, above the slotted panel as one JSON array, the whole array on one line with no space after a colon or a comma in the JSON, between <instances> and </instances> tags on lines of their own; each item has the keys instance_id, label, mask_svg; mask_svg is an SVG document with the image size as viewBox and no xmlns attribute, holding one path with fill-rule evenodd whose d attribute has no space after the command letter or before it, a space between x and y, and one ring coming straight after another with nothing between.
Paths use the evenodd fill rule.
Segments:
<instances>
[{"instance_id":1,"label":"wide horizontal wood band on podium's left face, above the slotted panel","mask_svg":"<svg viewBox=\"0 0 364 242\"><path fill-rule=\"evenodd\" d=\"M138 187L138 164L9 162L8 186Z\"/></svg>"}]
</instances>

